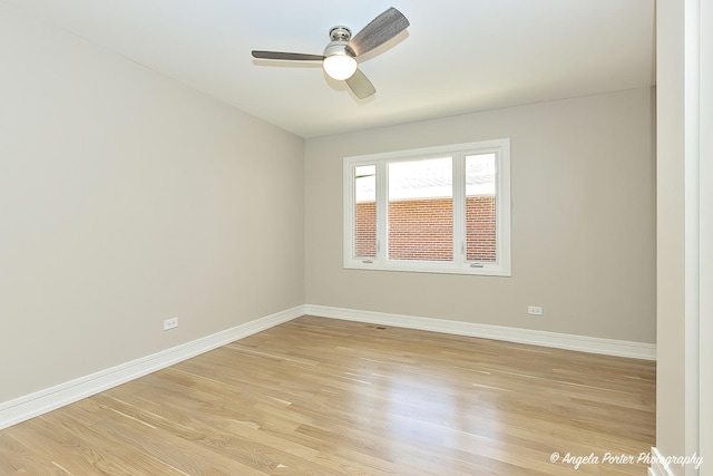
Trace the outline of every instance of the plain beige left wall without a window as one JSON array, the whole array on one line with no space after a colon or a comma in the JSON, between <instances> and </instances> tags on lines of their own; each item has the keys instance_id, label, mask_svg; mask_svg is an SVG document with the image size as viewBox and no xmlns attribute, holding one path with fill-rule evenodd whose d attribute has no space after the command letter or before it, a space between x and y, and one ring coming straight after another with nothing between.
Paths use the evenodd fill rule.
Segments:
<instances>
[{"instance_id":1,"label":"plain beige left wall without a window","mask_svg":"<svg viewBox=\"0 0 713 476\"><path fill-rule=\"evenodd\" d=\"M301 138L1 3L0 58L0 402L304 302Z\"/></svg>"}]
</instances>

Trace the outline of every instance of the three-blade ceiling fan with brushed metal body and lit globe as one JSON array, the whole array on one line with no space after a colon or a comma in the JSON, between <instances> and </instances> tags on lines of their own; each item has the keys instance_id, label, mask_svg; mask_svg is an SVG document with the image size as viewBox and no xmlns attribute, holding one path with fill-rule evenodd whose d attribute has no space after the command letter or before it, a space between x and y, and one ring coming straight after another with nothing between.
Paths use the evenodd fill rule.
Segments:
<instances>
[{"instance_id":1,"label":"three-blade ceiling fan with brushed metal body and lit globe","mask_svg":"<svg viewBox=\"0 0 713 476\"><path fill-rule=\"evenodd\" d=\"M253 57L286 61L322 61L322 67L330 77L346 81L354 95L364 99L377 93L377 89L359 69L358 58L385 43L406 30L409 25L409 20L399 10L391 7L371 20L353 38L349 28L341 25L332 27L330 29L331 41L326 45L323 55L253 50Z\"/></svg>"}]
</instances>

